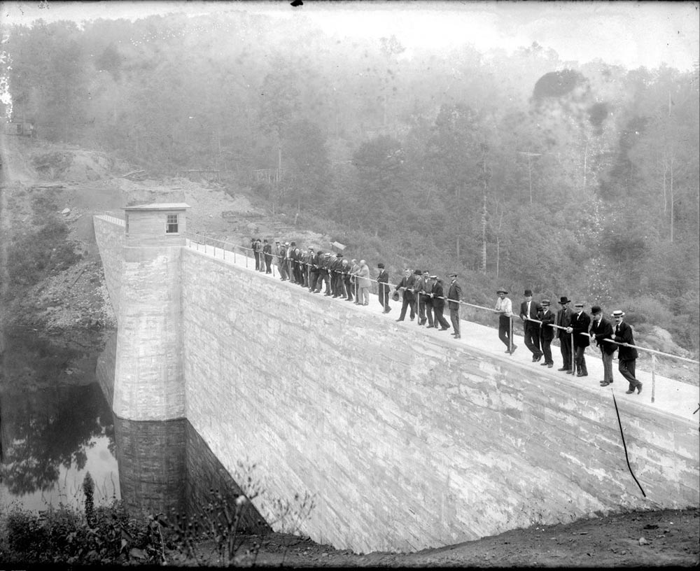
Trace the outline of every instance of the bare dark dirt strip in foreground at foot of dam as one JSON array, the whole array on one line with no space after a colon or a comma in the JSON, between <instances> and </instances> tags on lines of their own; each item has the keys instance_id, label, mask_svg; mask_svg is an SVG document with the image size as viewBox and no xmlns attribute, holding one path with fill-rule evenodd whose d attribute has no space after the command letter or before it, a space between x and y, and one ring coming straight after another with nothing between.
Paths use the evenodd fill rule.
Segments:
<instances>
[{"instance_id":1,"label":"bare dark dirt strip in foreground at foot of dam","mask_svg":"<svg viewBox=\"0 0 700 571\"><path fill-rule=\"evenodd\" d=\"M632 512L556 526L511 530L481 540L412 554L353 554L310 540L272 534L237 551L241 566L289 567L696 567L700 510ZM246 553L262 542L257 557ZM216 547L202 543L199 565L222 565ZM172 554L174 556L174 554ZM174 556L172 565L197 565Z\"/></svg>"}]
</instances>

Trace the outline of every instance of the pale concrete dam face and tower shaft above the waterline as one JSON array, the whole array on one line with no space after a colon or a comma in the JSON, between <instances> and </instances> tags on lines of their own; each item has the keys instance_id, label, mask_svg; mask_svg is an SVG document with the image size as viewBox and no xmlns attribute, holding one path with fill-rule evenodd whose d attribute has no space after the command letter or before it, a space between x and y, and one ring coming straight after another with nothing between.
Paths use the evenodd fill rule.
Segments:
<instances>
[{"instance_id":1,"label":"pale concrete dam face and tower shaft above the waterline","mask_svg":"<svg viewBox=\"0 0 700 571\"><path fill-rule=\"evenodd\" d=\"M363 311L193 248L121 255L113 281L132 309L120 308L118 346L137 358L118 351L118 371L131 373L116 377L115 411L141 419L144 402L159 403L151 409L186 416L230 474L257 464L255 506L275 530L289 521L273 500L307 492L316 509L297 531L363 552L700 503L687 418L618 399L644 498L597 387L573 390L564 376L398 327L379 304ZM172 374L153 374L158 364Z\"/></svg>"}]
</instances>

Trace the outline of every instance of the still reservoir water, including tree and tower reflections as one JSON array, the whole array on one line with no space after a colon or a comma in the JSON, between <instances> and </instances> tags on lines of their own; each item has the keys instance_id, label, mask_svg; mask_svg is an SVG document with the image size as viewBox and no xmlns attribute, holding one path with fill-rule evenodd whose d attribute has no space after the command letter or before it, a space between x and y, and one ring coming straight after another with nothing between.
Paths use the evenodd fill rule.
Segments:
<instances>
[{"instance_id":1,"label":"still reservoir water, including tree and tower reflections","mask_svg":"<svg viewBox=\"0 0 700 571\"><path fill-rule=\"evenodd\" d=\"M186 421L134 422L111 411L116 332L102 353L32 330L0 339L0 513L123 500L132 515L194 514L214 488L240 488ZM255 519L258 514L251 514Z\"/></svg>"}]
</instances>

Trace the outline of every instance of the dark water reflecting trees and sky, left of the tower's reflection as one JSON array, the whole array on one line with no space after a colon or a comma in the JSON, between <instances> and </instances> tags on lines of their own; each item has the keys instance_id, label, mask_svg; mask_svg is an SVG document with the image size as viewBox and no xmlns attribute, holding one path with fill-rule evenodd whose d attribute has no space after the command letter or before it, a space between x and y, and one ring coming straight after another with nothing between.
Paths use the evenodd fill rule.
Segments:
<instances>
[{"instance_id":1,"label":"dark water reflecting trees and sky, left of the tower's reflection","mask_svg":"<svg viewBox=\"0 0 700 571\"><path fill-rule=\"evenodd\" d=\"M94 382L97 355L35 332L6 334L0 353L0 498L27 509L78 505L85 473L96 499L119 497L112 412Z\"/></svg>"}]
</instances>

